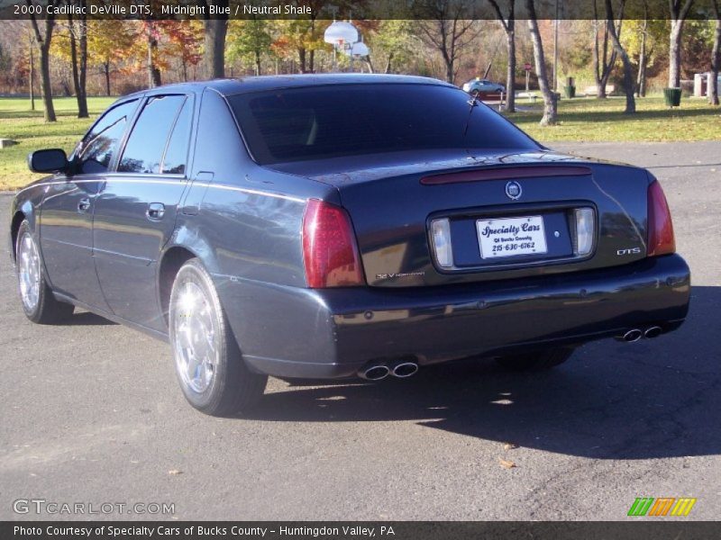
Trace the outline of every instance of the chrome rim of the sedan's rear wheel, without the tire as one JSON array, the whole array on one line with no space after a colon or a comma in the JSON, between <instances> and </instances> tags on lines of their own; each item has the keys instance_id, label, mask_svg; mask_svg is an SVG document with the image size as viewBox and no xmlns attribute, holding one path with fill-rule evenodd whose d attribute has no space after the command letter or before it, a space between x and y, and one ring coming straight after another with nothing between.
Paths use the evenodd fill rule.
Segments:
<instances>
[{"instance_id":1,"label":"chrome rim of the sedan's rear wheel, without the tire","mask_svg":"<svg viewBox=\"0 0 721 540\"><path fill-rule=\"evenodd\" d=\"M177 298L172 321L176 367L187 388L202 393L213 383L219 361L213 304L192 282L180 285Z\"/></svg>"}]
</instances>

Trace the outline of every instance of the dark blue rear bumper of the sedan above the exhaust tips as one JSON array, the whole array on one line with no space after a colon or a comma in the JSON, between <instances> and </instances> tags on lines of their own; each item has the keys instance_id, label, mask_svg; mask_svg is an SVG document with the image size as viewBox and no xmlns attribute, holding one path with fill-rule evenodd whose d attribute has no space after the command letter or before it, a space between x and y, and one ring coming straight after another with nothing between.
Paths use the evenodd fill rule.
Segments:
<instances>
[{"instance_id":1,"label":"dark blue rear bumper of the sedan above the exhaust tips","mask_svg":"<svg viewBox=\"0 0 721 540\"><path fill-rule=\"evenodd\" d=\"M689 308L690 273L671 255L573 275L439 287L219 285L252 368L341 378L378 359L415 356L428 365L576 345L652 325L671 331Z\"/></svg>"}]
</instances>

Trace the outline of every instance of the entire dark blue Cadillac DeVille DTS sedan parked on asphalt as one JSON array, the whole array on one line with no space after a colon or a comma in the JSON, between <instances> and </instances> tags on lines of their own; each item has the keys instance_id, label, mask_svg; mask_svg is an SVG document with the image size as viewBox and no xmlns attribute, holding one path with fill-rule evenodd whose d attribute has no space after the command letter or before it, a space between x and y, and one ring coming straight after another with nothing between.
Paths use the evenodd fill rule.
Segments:
<instances>
[{"instance_id":1,"label":"entire dark blue Cadillac DeVille DTS sedan parked on asphalt","mask_svg":"<svg viewBox=\"0 0 721 540\"><path fill-rule=\"evenodd\" d=\"M688 311L652 175L553 153L432 79L155 88L29 165L54 174L12 207L25 314L79 306L169 339L208 414L247 408L268 375L551 367Z\"/></svg>"}]
</instances>

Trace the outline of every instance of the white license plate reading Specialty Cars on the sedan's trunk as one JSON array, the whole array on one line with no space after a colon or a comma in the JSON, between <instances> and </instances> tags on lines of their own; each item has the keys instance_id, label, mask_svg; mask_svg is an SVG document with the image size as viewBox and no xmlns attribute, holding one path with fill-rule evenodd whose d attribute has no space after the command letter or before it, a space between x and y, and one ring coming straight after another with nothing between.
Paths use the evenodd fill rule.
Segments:
<instances>
[{"instance_id":1,"label":"white license plate reading Specialty Cars on the sedan's trunk","mask_svg":"<svg viewBox=\"0 0 721 540\"><path fill-rule=\"evenodd\" d=\"M480 257L484 259L546 253L543 217L477 220Z\"/></svg>"}]
</instances>

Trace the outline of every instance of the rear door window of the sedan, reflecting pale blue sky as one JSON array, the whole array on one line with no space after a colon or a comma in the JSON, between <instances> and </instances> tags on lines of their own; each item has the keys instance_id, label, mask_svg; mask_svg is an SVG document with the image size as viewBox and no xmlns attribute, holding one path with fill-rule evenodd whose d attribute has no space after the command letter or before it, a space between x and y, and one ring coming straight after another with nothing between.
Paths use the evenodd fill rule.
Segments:
<instances>
[{"instance_id":1,"label":"rear door window of the sedan, reflecting pale blue sky","mask_svg":"<svg viewBox=\"0 0 721 540\"><path fill-rule=\"evenodd\" d=\"M160 95L145 103L123 150L118 172L160 173L170 129L185 100L185 95Z\"/></svg>"}]
</instances>

